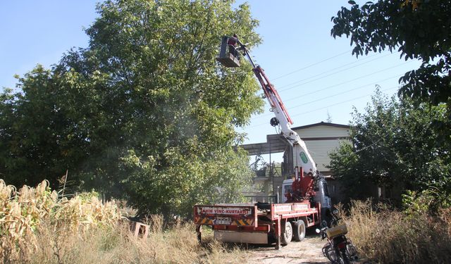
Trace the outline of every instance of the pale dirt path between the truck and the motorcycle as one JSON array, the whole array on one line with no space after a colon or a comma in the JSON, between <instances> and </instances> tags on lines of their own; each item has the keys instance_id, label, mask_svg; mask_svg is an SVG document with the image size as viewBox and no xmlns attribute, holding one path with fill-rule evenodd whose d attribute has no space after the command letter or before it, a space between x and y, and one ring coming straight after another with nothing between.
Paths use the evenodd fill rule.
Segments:
<instances>
[{"instance_id":1,"label":"pale dirt path between the truck and the motorcycle","mask_svg":"<svg viewBox=\"0 0 451 264\"><path fill-rule=\"evenodd\" d=\"M280 250L274 246L263 246L249 249L248 264L300 264L329 263L321 249L326 241L321 241L317 235L306 237L300 242L291 242Z\"/></svg>"}]
</instances>

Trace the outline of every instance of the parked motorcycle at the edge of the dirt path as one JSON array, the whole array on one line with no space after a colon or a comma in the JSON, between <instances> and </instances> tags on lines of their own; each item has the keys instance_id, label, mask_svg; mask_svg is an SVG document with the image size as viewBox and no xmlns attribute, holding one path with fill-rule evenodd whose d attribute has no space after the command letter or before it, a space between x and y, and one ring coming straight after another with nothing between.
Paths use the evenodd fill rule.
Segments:
<instances>
[{"instance_id":1,"label":"parked motorcycle at the edge of the dirt path","mask_svg":"<svg viewBox=\"0 0 451 264\"><path fill-rule=\"evenodd\" d=\"M348 239L346 224L338 225L338 210L333 210L330 227L323 223L321 229L316 229L316 233L321 234L321 239L327 238L327 243L323 246L323 255L332 264L350 264L352 260L357 260L357 249Z\"/></svg>"}]
</instances>

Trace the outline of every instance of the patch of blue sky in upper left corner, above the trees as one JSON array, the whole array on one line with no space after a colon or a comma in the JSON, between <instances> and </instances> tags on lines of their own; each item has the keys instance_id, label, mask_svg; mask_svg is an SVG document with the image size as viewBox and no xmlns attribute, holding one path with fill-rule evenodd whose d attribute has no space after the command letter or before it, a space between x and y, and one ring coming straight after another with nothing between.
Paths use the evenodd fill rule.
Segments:
<instances>
[{"instance_id":1,"label":"patch of blue sky in upper left corner, above the trees","mask_svg":"<svg viewBox=\"0 0 451 264\"><path fill-rule=\"evenodd\" d=\"M13 75L57 63L73 46L85 47L95 1L0 1L0 87L14 87Z\"/></svg>"}]
</instances>

